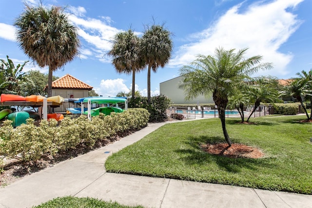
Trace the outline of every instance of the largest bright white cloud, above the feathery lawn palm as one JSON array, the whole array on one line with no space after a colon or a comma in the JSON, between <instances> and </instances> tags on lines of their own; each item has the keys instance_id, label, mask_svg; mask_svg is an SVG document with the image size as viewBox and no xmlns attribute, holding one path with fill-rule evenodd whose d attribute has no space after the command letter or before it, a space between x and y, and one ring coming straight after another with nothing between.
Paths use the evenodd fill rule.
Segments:
<instances>
[{"instance_id":1,"label":"largest bright white cloud, above the feathery lawn palm","mask_svg":"<svg viewBox=\"0 0 312 208\"><path fill-rule=\"evenodd\" d=\"M246 57L262 55L263 62L273 62L273 76L285 75L285 67L292 60L292 54L281 53L279 47L285 43L300 26L289 9L295 8L302 0L275 0L270 3L251 4L240 12L242 4L229 9L213 25L200 33L192 34L193 43L179 47L170 67L189 64L196 55L213 55L216 47L226 50L248 47ZM260 73L261 74L261 73ZM268 74L265 72L265 74Z\"/></svg>"}]
</instances>

